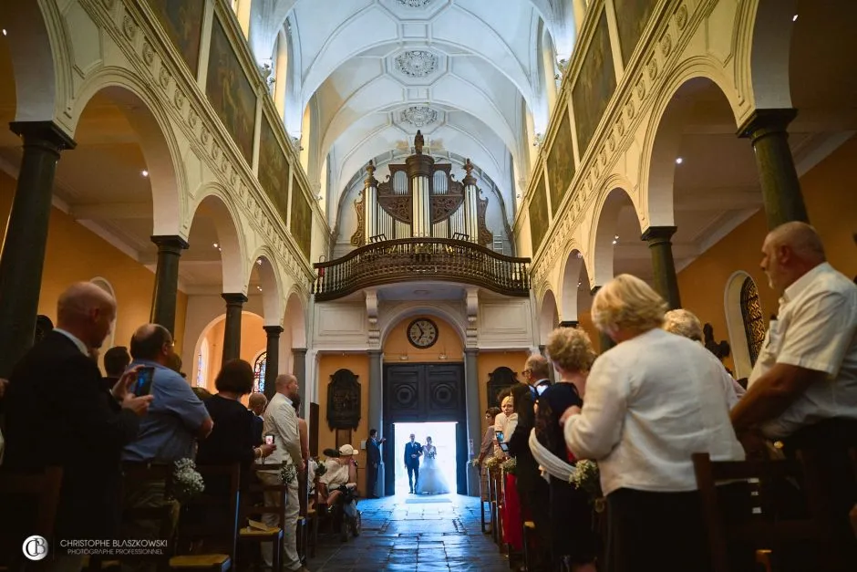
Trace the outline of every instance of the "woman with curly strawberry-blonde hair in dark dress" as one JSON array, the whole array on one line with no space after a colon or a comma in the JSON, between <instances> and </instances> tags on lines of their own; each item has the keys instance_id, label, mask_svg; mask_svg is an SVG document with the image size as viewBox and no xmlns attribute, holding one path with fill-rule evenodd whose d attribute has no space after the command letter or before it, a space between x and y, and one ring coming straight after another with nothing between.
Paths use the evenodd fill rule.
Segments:
<instances>
[{"instance_id":1,"label":"woman with curly strawberry-blonde hair in dark dress","mask_svg":"<svg viewBox=\"0 0 857 572\"><path fill-rule=\"evenodd\" d=\"M559 380L542 392L536 404L535 432L530 442L533 453L541 444L550 452L536 460L551 474L548 517L552 530L553 569L562 569L563 560L573 572L595 572L597 542L592 526L592 506L584 491L569 483L574 459L565 447L560 417L570 407L583 407L586 376L592 368L595 350L589 336L580 328L557 328L548 338L547 352ZM533 438L537 442L533 442ZM552 473L552 463L561 463Z\"/></svg>"}]
</instances>

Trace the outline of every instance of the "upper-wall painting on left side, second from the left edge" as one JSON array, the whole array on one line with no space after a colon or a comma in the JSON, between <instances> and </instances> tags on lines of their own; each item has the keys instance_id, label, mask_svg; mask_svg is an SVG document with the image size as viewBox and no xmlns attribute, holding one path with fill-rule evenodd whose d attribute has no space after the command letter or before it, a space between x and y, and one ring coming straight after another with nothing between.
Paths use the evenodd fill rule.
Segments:
<instances>
[{"instance_id":1,"label":"upper-wall painting on left side, second from the left edge","mask_svg":"<svg viewBox=\"0 0 857 572\"><path fill-rule=\"evenodd\" d=\"M218 18L212 23L205 93L244 159L252 163L256 94Z\"/></svg>"}]
</instances>

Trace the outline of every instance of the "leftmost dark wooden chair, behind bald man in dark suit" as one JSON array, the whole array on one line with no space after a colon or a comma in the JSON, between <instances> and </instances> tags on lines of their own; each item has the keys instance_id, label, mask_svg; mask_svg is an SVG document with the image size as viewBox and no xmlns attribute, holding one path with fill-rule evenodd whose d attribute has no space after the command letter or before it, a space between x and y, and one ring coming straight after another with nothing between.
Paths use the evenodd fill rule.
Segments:
<instances>
[{"instance_id":1,"label":"leftmost dark wooden chair, behind bald man in dark suit","mask_svg":"<svg viewBox=\"0 0 857 572\"><path fill-rule=\"evenodd\" d=\"M25 560L22 546L28 536L53 536L62 480L60 467L47 467L38 473L0 470L0 567L14 571L49 567L50 557ZM27 512L32 518L22 518ZM39 546L34 544L33 549Z\"/></svg>"}]
</instances>

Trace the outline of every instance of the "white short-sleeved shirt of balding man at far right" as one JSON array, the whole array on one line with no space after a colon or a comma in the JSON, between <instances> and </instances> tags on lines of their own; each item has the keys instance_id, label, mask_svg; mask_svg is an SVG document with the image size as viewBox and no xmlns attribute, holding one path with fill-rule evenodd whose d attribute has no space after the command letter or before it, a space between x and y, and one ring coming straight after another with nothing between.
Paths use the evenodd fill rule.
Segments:
<instances>
[{"instance_id":1,"label":"white short-sleeved shirt of balding man at far right","mask_svg":"<svg viewBox=\"0 0 857 572\"><path fill-rule=\"evenodd\" d=\"M857 286L828 263L786 288L771 320L748 388L775 363L823 371L827 379L807 389L762 425L770 438L832 417L857 419Z\"/></svg>"}]
</instances>

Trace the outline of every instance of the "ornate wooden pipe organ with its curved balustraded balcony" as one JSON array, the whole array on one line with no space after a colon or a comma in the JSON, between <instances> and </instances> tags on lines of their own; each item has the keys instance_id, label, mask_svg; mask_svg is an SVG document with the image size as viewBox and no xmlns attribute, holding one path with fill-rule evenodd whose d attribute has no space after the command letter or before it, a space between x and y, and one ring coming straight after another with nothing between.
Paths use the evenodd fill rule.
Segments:
<instances>
[{"instance_id":1,"label":"ornate wooden pipe organ with its curved balustraded balcony","mask_svg":"<svg viewBox=\"0 0 857 572\"><path fill-rule=\"evenodd\" d=\"M335 300L371 286L399 282L453 282L506 296L530 296L530 259L488 248L488 200L480 197L467 160L461 182L450 164L423 153L420 131L414 154L390 164L385 182L369 161L363 192L355 202L354 250L315 264L317 301Z\"/></svg>"}]
</instances>

